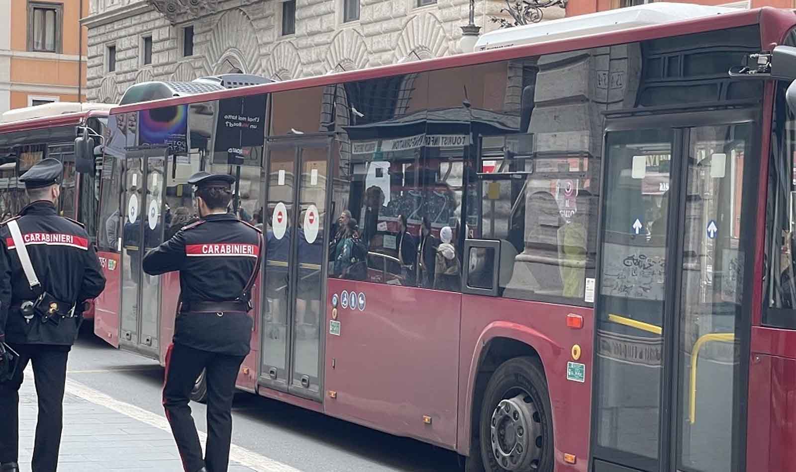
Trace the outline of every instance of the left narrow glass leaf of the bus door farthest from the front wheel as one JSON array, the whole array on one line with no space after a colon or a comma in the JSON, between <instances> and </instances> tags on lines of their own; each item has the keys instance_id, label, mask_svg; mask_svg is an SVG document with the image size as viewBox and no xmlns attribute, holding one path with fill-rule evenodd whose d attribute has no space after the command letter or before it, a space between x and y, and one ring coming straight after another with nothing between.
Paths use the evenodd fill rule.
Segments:
<instances>
[{"instance_id":1,"label":"left narrow glass leaf of the bus door farthest from the front wheel","mask_svg":"<svg viewBox=\"0 0 796 472\"><path fill-rule=\"evenodd\" d=\"M146 183L142 157L126 161L123 177L123 241L122 241L122 327L120 342L137 344L139 333L139 284L141 284L141 232Z\"/></svg>"}]
</instances>

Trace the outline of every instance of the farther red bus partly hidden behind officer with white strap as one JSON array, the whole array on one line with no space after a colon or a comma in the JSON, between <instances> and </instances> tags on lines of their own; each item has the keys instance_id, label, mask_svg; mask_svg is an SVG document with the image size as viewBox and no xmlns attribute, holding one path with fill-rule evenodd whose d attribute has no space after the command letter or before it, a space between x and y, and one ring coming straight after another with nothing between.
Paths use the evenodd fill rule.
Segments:
<instances>
[{"instance_id":1,"label":"farther red bus partly hidden behind officer with white strap","mask_svg":"<svg viewBox=\"0 0 796 472\"><path fill-rule=\"evenodd\" d=\"M102 136L108 110L111 105L104 103L56 102L0 115L0 221L17 215L28 203L25 186L17 177L41 159L55 157L64 163L58 211L82 222L93 241L100 207L99 181L93 172L77 168L75 138L76 133ZM100 144L100 139L96 142ZM83 316L93 318L93 304Z\"/></svg>"}]
</instances>

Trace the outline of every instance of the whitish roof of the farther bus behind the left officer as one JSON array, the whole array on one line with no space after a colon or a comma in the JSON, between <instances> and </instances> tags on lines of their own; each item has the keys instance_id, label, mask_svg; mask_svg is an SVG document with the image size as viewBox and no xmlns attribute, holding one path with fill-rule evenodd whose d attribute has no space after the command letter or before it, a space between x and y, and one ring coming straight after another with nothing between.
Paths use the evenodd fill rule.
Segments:
<instances>
[{"instance_id":1,"label":"whitish roof of the farther bus behind the left officer","mask_svg":"<svg viewBox=\"0 0 796 472\"><path fill-rule=\"evenodd\" d=\"M16 108L0 114L0 133L79 124L89 116L107 116L115 105L55 102Z\"/></svg>"}]
</instances>

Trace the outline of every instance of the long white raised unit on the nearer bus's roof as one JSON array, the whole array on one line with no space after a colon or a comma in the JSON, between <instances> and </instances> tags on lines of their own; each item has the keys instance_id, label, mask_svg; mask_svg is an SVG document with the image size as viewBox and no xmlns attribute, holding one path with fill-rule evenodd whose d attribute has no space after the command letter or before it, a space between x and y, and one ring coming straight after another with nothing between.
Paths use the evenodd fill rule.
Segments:
<instances>
[{"instance_id":1,"label":"long white raised unit on the nearer bus's roof","mask_svg":"<svg viewBox=\"0 0 796 472\"><path fill-rule=\"evenodd\" d=\"M521 44L572 39L593 34L607 34L622 29L665 25L675 21L693 20L711 15L737 13L738 9L690 3L656 2L630 6L594 14L542 21L533 25L497 29L478 38L476 51L508 48Z\"/></svg>"}]
</instances>

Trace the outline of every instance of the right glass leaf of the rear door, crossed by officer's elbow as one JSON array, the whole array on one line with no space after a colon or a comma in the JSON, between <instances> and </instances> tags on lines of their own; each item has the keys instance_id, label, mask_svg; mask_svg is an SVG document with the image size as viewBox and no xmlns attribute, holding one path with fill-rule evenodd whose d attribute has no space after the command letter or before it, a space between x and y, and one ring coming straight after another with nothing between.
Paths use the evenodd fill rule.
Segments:
<instances>
[{"instance_id":1,"label":"right glass leaf of the rear door, crossed by officer's elbow","mask_svg":"<svg viewBox=\"0 0 796 472\"><path fill-rule=\"evenodd\" d=\"M162 152L162 151L161 151ZM149 157L146 161L146 201L141 208L144 217L144 251L158 247L163 241L164 218L163 185L165 184L165 158ZM142 274L141 284L141 342L158 350L158 331L160 324L160 284L159 276Z\"/></svg>"}]
</instances>

